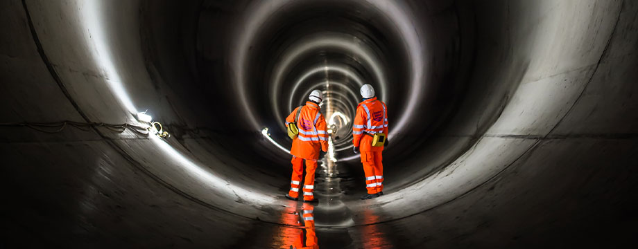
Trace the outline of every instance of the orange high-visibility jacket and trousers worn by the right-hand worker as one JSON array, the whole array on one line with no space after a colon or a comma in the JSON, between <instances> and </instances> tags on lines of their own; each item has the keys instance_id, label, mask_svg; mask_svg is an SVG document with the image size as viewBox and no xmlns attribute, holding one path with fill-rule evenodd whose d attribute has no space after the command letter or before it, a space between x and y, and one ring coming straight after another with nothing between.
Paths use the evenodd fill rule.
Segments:
<instances>
[{"instance_id":1,"label":"orange high-visibility jacket and trousers worn by the right-hand worker","mask_svg":"<svg viewBox=\"0 0 638 249\"><path fill-rule=\"evenodd\" d=\"M359 147L361 163L365 173L365 188L368 194L383 191L383 146L372 147L374 133L388 135L388 111L386 103L376 97L364 100L356 107L356 116L352 127L352 143ZM370 136L369 136L369 135ZM387 137L386 137L387 138Z\"/></svg>"}]
</instances>

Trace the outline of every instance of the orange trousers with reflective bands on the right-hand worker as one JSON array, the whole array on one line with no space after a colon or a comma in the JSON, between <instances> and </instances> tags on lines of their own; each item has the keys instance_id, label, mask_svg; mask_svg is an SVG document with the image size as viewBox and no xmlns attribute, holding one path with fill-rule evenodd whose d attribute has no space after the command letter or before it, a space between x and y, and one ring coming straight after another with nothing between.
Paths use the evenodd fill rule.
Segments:
<instances>
[{"instance_id":1,"label":"orange trousers with reflective bands on the right-hand worker","mask_svg":"<svg viewBox=\"0 0 638 249\"><path fill-rule=\"evenodd\" d=\"M361 163L365 173L365 188L368 194L383 191L383 156L382 151L361 151Z\"/></svg>"}]
</instances>

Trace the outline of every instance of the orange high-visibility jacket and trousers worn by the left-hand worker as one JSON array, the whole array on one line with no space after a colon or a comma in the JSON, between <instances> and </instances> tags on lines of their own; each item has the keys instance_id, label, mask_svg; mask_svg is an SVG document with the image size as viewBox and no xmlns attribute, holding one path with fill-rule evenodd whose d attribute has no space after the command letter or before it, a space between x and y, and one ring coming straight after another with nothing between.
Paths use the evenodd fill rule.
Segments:
<instances>
[{"instance_id":1,"label":"orange high-visibility jacket and trousers worn by the left-hand worker","mask_svg":"<svg viewBox=\"0 0 638 249\"><path fill-rule=\"evenodd\" d=\"M313 190L315 188L315 170L317 169L317 159L319 158L319 149L328 151L328 132L326 127L326 119L319 112L319 105L313 102L306 102L303 107L297 107L293 110L288 118L286 118L286 127L288 124L295 122L297 109L301 108L299 113L297 128L299 136L293 140L293 147L290 151L293 154L293 176L291 181L291 189L288 192L293 198L298 198L300 182L304 172L303 160L306 160L306 180L304 181L304 200L313 201Z\"/></svg>"}]
</instances>

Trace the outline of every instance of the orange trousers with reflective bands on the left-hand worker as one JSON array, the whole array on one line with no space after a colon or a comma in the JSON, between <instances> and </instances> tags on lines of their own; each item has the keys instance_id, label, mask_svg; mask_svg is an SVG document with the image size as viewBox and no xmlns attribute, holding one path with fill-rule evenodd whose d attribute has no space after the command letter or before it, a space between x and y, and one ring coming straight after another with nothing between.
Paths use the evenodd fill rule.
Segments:
<instances>
[{"instance_id":1,"label":"orange trousers with reflective bands on the left-hand worker","mask_svg":"<svg viewBox=\"0 0 638 249\"><path fill-rule=\"evenodd\" d=\"M306 160L306 181L304 181L303 187L301 187L301 181L304 174L304 159L293 156L291 163L293 163L293 176L291 177L291 188L288 195L293 198L298 198L299 189L301 188L304 194L304 200L313 201L315 199L313 191L315 189L315 170L317 169L317 160Z\"/></svg>"}]
</instances>

